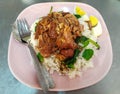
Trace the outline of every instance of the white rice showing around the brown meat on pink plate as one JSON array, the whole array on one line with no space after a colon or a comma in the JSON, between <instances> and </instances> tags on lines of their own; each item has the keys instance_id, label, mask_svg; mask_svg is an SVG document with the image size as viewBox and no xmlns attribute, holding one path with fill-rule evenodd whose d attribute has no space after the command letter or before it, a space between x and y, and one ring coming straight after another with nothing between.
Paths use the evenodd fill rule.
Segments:
<instances>
[{"instance_id":1,"label":"white rice showing around the brown meat on pink plate","mask_svg":"<svg viewBox=\"0 0 120 94\"><path fill-rule=\"evenodd\" d=\"M88 27L87 23L84 22L85 20L88 20L87 16L85 16L84 18L81 18L79 20L79 22L82 25L84 25L84 32L82 32L82 35L84 35L84 36L86 36L86 37L88 37L88 38L90 38L90 39L92 39L94 41L97 41L97 36L95 36L94 33L89 30L89 27ZM30 41L31 41L31 44L34 47L34 49L35 49L35 46L38 45L38 41L34 39L35 26L36 26L36 23L38 21L39 20L36 20L33 23L33 25L31 26L32 33L31 33ZM95 29L97 30L97 26L96 26ZM93 49L94 53L96 53L96 47L94 45L92 45L91 43L89 43L89 45L86 48ZM84 51L84 49L83 49L83 51ZM37 52L37 50L36 50L36 52ZM54 56L51 56L51 57L48 57L48 58L44 58L43 64L45 65L47 70L50 72L50 74L53 74L56 71L56 72L59 73L59 75L62 75L61 72L60 72L59 62L58 62L58 60L55 59ZM75 66L74 69L69 69L69 71L66 71L66 70L64 71L65 75L68 75L69 78L75 78L76 76L81 76L83 70L86 70L88 68L93 68L94 64L93 64L91 59L89 61L85 60L82 57L82 52L81 52L79 54L79 56L77 57L77 61L74 64L74 66Z\"/></svg>"}]
</instances>

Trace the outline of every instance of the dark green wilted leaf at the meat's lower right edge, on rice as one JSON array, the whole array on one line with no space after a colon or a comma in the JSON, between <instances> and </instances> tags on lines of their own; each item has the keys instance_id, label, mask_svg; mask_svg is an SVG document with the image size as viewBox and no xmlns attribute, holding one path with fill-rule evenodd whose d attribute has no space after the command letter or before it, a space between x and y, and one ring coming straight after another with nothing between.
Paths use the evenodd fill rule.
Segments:
<instances>
[{"instance_id":1,"label":"dark green wilted leaf at the meat's lower right edge, on rice","mask_svg":"<svg viewBox=\"0 0 120 94\"><path fill-rule=\"evenodd\" d=\"M74 68L74 63L76 62L77 60L76 57L79 55L79 53L80 53L80 50L75 49L73 57L68 58L64 61L68 68Z\"/></svg>"}]
</instances>

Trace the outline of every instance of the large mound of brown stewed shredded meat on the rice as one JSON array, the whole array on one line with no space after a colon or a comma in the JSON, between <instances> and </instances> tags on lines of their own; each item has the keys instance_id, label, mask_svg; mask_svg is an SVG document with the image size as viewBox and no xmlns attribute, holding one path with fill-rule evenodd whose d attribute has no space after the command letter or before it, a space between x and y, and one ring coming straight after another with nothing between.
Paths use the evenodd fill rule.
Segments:
<instances>
[{"instance_id":1,"label":"large mound of brown stewed shredded meat on the rice","mask_svg":"<svg viewBox=\"0 0 120 94\"><path fill-rule=\"evenodd\" d=\"M36 25L36 47L43 57L54 54L59 60L70 58L77 48L75 39L83 31L78 19L69 12L52 12L43 17Z\"/></svg>"}]
</instances>

